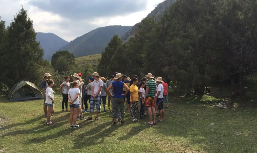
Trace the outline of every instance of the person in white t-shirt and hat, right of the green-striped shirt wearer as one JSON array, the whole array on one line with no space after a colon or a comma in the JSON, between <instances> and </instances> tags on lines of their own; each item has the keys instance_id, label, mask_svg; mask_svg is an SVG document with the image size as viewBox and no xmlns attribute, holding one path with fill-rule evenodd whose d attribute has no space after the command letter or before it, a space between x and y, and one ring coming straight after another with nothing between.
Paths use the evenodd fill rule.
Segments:
<instances>
[{"instance_id":1,"label":"person in white t-shirt and hat, right of the green-striped shirt wearer","mask_svg":"<svg viewBox=\"0 0 257 153\"><path fill-rule=\"evenodd\" d=\"M155 97L155 102L157 104L157 110L159 110L160 118L158 121L163 121L164 118L164 109L163 109L163 92L164 92L164 87L162 85L162 77L158 77L156 79L157 83L157 89L156 89L156 97Z\"/></svg>"}]
</instances>

